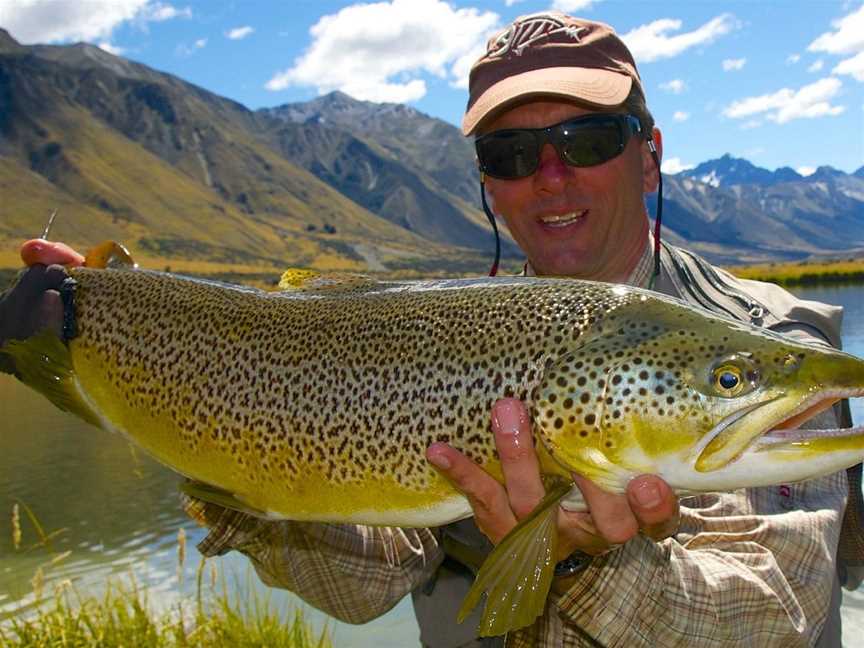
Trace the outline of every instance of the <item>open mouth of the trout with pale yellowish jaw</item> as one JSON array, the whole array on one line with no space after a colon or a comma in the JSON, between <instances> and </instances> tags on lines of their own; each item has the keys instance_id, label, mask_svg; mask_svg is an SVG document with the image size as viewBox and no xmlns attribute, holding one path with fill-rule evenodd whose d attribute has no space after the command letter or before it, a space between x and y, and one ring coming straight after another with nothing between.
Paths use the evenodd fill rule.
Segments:
<instances>
[{"instance_id":1,"label":"open mouth of the trout with pale yellowish jaw","mask_svg":"<svg viewBox=\"0 0 864 648\"><path fill-rule=\"evenodd\" d=\"M778 445L802 443L814 439L843 438L864 432L864 426L827 430L801 429L801 425L829 409L843 398L864 396L862 389L821 391L802 399L791 411L783 405L786 394L747 405L726 416L694 448L694 468L712 472L727 466L745 452L760 452ZM753 428L753 415L759 412L764 423Z\"/></svg>"}]
</instances>

